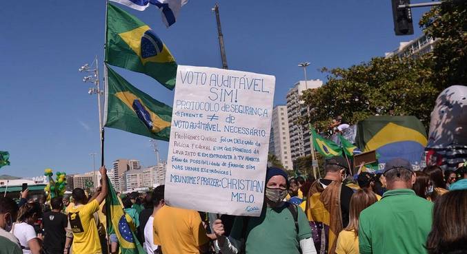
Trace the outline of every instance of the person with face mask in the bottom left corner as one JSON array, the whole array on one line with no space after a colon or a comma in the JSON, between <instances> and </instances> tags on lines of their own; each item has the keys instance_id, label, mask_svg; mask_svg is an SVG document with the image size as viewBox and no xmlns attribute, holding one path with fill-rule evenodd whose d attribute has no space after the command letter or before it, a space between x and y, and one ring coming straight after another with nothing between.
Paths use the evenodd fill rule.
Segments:
<instances>
[{"instance_id":1,"label":"person with face mask in the bottom left corner","mask_svg":"<svg viewBox=\"0 0 467 254\"><path fill-rule=\"evenodd\" d=\"M9 231L17 220L18 206L11 198L0 198L0 254L21 254L18 238Z\"/></svg>"}]
</instances>

